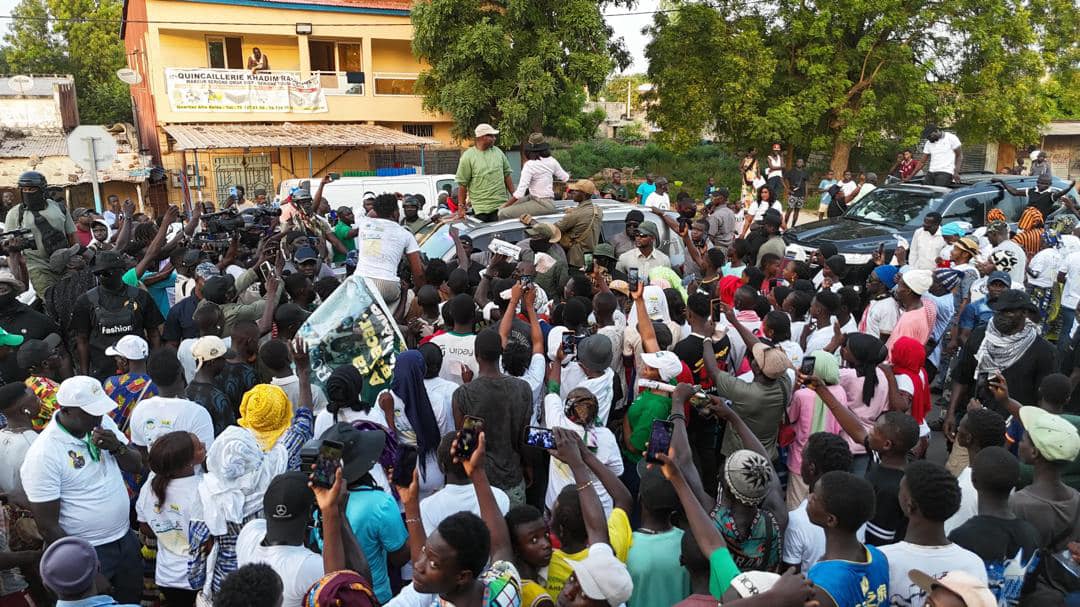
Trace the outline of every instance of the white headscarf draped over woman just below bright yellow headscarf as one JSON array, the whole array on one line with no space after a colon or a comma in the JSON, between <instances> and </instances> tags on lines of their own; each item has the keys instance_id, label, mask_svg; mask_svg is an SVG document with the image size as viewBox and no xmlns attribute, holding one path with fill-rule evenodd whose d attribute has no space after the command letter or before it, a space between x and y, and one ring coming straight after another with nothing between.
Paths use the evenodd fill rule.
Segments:
<instances>
[{"instance_id":1,"label":"white headscarf draped over woman just below bright yellow headscarf","mask_svg":"<svg viewBox=\"0 0 1080 607\"><path fill-rule=\"evenodd\" d=\"M207 472L199 484L202 512L195 517L206 523L212 535L225 535L227 523L242 523L262 509L270 481L287 469L285 447L275 445L262 453L249 431L226 428L206 454Z\"/></svg>"}]
</instances>

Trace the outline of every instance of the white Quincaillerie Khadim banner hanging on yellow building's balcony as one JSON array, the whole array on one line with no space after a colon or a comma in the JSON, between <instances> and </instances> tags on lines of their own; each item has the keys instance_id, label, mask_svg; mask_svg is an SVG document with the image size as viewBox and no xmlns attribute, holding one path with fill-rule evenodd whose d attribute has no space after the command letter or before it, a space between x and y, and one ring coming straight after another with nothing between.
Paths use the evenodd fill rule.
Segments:
<instances>
[{"instance_id":1,"label":"white Quincaillerie Khadim banner hanging on yellow building's balcony","mask_svg":"<svg viewBox=\"0 0 1080 607\"><path fill-rule=\"evenodd\" d=\"M173 111L326 111L318 75L166 68L165 86Z\"/></svg>"}]
</instances>

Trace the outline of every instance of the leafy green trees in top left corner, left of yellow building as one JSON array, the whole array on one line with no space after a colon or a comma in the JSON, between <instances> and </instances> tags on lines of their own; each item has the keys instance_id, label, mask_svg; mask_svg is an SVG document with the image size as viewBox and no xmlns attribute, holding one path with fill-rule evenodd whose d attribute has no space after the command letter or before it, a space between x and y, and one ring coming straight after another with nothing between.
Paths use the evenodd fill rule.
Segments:
<instances>
[{"instance_id":1,"label":"leafy green trees in top left corner, left of yellow building","mask_svg":"<svg viewBox=\"0 0 1080 607\"><path fill-rule=\"evenodd\" d=\"M81 122L131 122L131 93L116 73L127 65L121 10L119 0L21 0L3 38L6 71L71 73Z\"/></svg>"}]
</instances>

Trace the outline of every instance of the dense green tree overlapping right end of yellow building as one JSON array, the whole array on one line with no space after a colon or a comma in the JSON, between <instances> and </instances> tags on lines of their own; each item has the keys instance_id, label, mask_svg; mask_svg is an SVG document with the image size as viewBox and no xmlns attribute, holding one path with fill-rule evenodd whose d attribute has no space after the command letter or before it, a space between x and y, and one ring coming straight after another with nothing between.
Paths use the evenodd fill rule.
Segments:
<instances>
[{"instance_id":1,"label":"dense green tree overlapping right end of yellow building","mask_svg":"<svg viewBox=\"0 0 1080 607\"><path fill-rule=\"evenodd\" d=\"M423 105L454 118L454 134L489 122L521 141L599 91L612 67L629 65L622 39L600 13L627 0L430 0L413 5L413 52L429 64L417 80Z\"/></svg>"}]
</instances>

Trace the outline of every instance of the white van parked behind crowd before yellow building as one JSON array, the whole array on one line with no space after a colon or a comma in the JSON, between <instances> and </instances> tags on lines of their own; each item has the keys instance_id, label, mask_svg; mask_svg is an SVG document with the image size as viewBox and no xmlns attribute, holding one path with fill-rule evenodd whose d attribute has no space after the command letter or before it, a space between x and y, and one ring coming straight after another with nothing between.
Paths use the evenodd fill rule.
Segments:
<instances>
[{"instance_id":1,"label":"white van parked behind crowd before yellow building","mask_svg":"<svg viewBox=\"0 0 1080 607\"><path fill-rule=\"evenodd\" d=\"M285 179L279 189L279 200L284 200L293 188L310 187L312 195L319 189L320 179ZM397 177L341 177L326 184L323 198L330 208L349 206L356 215L363 215L364 192L422 194L424 204L420 215L427 217L438 204L438 192L457 185L454 175L401 175Z\"/></svg>"}]
</instances>

